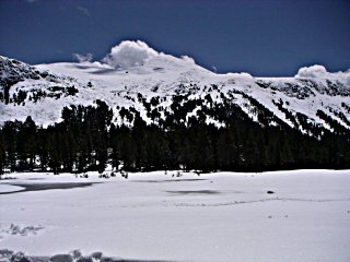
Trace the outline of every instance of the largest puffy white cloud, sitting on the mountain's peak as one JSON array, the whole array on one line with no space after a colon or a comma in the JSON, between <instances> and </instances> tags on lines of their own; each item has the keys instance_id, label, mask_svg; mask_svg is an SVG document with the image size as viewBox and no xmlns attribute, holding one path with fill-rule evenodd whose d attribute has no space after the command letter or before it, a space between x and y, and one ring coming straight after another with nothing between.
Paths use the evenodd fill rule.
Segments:
<instances>
[{"instance_id":1,"label":"largest puffy white cloud, sitting on the mountain's peak","mask_svg":"<svg viewBox=\"0 0 350 262\"><path fill-rule=\"evenodd\" d=\"M147 60L158 56L160 53L143 41L126 40L113 47L103 61L114 68L128 69L142 66Z\"/></svg>"}]
</instances>

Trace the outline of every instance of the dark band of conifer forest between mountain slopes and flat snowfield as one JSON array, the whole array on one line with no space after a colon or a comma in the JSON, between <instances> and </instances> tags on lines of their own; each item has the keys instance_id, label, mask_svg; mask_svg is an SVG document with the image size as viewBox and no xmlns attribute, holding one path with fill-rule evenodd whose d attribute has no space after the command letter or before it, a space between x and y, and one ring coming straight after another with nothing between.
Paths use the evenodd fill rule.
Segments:
<instances>
[{"instance_id":1,"label":"dark band of conifer forest between mountain slopes and flat snowfield","mask_svg":"<svg viewBox=\"0 0 350 262\"><path fill-rule=\"evenodd\" d=\"M335 132L305 123L310 133L319 134L313 138L246 98L260 123L230 97L218 103L210 95L196 99L176 95L166 109L159 97L148 102L139 95L151 123L135 108L122 107L118 108L122 122L115 124L113 109L101 100L94 106L65 107L63 121L47 128L36 126L31 117L9 121L0 130L0 171L103 172L107 164L127 171L350 168L349 130L326 114L318 112ZM209 123L209 118L223 124ZM294 121L305 119L298 116Z\"/></svg>"}]
</instances>

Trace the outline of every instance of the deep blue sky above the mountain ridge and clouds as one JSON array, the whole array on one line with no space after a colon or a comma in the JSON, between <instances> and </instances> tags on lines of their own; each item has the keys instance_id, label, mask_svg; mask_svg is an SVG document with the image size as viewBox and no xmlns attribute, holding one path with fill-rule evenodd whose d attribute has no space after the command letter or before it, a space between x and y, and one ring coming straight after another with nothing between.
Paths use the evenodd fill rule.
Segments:
<instances>
[{"instance_id":1,"label":"deep blue sky above the mountain ridge and clouds","mask_svg":"<svg viewBox=\"0 0 350 262\"><path fill-rule=\"evenodd\" d=\"M0 55L28 63L102 59L124 39L219 72L350 68L350 0L0 0Z\"/></svg>"}]
</instances>

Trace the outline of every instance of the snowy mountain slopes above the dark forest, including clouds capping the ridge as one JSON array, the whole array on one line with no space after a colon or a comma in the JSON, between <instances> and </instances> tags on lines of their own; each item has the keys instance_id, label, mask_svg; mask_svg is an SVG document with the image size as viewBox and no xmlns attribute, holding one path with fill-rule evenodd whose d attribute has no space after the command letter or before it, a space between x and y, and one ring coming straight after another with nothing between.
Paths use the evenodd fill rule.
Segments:
<instances>
[{"instance_id":1,"label":"snowy mountain slopes above the dark forest, including clouds capping the ridge","mask_svg":"<svg viewBox=\"0 0 350 262\"><path fill-rule=\"evenodd\" d=\"M117 123L121 107L136 108L151 122L142 99L156 97L156 108L172 110L173 98L183 96L218 105L230 100L253 121L269 126L282 121L308 134L308 127L334 131L331 122L350 130L350 71L330 73L313 66L300 69L294 78L217 74L191 58L158 52L141 41L122 41L102 62L82 58L79 63L28 66L0 57L0 123L32 116L47 126L61 121L63 107L93 105L96 99L116 109ZM188 117L198 110L195 107ZM273 118L262 123L259 110ZM222 124L211 117L206 121Z\"/></svg>"}]
</instances>

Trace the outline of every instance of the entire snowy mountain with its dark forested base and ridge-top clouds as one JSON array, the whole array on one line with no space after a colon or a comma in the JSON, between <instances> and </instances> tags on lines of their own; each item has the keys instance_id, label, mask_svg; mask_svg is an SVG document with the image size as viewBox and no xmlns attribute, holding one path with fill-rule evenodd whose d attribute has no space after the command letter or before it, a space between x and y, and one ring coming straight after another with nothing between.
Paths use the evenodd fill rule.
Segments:
<instances>
[{"instance_id":1,"label":"entire snowy mountain with its dark forested base and ridge-top clouds","mask_svg":"<svg viewBox=\"0 0 350 262\"><path fill-rule=\"evenodd\" d=\"M77 58L0 58L0 171L349 168L349 71L217 74L141 41Z\"/></svg>"}]
</instances>

